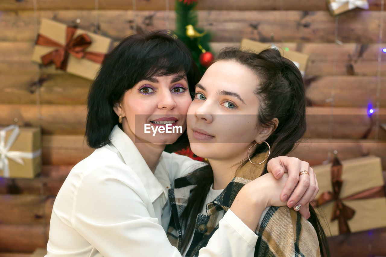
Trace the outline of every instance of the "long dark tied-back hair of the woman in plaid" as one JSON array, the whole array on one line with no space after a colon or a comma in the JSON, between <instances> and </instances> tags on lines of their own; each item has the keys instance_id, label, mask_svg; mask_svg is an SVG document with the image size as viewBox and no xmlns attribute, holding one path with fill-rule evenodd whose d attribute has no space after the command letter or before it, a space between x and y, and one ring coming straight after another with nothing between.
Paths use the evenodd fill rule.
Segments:
<instances>
[{"instance_id":1,"label":"long dark tied-back hair of the woman in plaid","mask_svg":"<svg viewBox=\"0 0 386 257\"><path fill-rule=\"evenodd\" d=\"M248 67L257 75L260 84L257 85L254 93L261 103L257 116L257 126L272 127L274 130L266 139L271 145L269 159L288 154L306 131L305 88L299 69L292 61L281 56L277 49L267 49L260 53L254 53L235 47L227 47L222 49L218 60L235 61ZM273 118L279 120L277 127L272 122ZM260 144L251 156L254 157L267 150L266 144ZM239 169L247 162L248 158L245 158L240 163ZM191 191L188 204L181 214L181 225L185 228L181 252L186 249L190 242L195 230L196 216L201 212L213 183L212 167L207 165L204 169L206 172L200 172L203 177L196 179L198 184ZM261 175L266 173L267 166L264 167ZM312 206L310 206L310 213L309 221L317 232L320 252L322 256L329 256L326 235Z\"/></svg>"}]
</instances>

